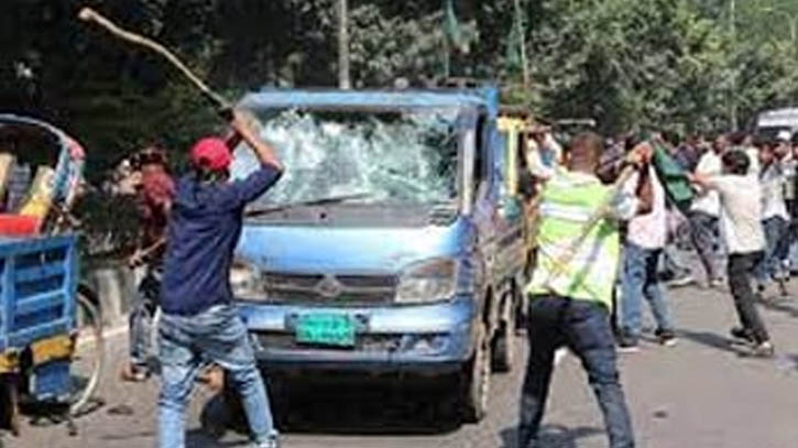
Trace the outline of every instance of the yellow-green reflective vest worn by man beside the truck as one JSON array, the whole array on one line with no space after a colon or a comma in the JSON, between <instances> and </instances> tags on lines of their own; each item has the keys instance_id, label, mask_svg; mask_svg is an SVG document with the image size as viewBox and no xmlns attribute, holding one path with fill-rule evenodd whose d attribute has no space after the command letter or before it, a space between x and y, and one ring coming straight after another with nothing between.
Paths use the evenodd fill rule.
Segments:
<instances>
[{"instance_id":1,"label":"yellow-green reflective vest worn by man beside the truck","mask_svg":"<svg viewBox=\"0 0 798 448\"><path fill-rule=\"evenodd\" d=\"M527 294L591 301L612 309L621 255L615 219L601 219L572 252L569 262L559 264L562 254L572 249L584 223L612 194L612 188L601 184L598 177L583 173L559 170L546 183L540 201L537 266L526 287ZM630 207L634 206L626 206Z\"/></svg>"}]
</instances>

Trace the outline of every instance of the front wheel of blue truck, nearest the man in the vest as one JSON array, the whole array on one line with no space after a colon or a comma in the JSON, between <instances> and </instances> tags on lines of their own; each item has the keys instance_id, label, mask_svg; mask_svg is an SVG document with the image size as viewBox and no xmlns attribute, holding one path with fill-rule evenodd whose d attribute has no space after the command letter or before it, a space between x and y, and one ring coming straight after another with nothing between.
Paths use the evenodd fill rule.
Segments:
<instances>
[{"instance_id":1,"label":"front wheel of blue truck, nearest the man in the vest","mask_svg":"<svg viewBox=\"0 0 798 448\"><path fill-rule=\"evenodd\" d=\"M488 413L491 384L491 343L484 325L479 326L475 349L460 373L460 408L466 423L479 423Z\"/></svg>"}]
</instances>

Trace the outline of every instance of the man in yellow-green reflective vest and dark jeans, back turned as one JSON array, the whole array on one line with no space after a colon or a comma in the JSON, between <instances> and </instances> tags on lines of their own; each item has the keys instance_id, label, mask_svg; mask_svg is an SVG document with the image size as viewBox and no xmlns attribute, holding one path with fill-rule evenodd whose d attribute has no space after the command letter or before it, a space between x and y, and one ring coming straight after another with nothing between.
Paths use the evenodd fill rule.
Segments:
<instances>
[{"instance_id":1,"label":"man in yellow-green reflective vest and dark jeans, back turned","mask_svg":"<svg viewBox=\"0 0 798 448\"><path fill-rule=\"evenodd\" d=\"M601 184L594 173L602 145L594 133L577 135L566 154L567 171L558 171L542 192L538 265L526 288L531 350L521 401L522 448L538 447L555 352L561 347L570 348L588 372L610 446L634 447L610 315L621 251L619 220L649 209L652 193L645 181L634 193L616 193ZM641 144L626 160L637 163L651 152L648 144ZM601 209L609 212L580 239L586 223ZM580 241L578 247L575 241Z\"/></svg>"}]
</instances>

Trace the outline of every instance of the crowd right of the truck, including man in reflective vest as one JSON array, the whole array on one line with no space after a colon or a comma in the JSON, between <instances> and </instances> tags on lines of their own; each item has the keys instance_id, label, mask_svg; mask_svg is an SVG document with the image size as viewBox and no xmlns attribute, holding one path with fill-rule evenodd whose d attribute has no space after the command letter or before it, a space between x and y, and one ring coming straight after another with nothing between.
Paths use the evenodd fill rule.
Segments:
<instances>
[{"instance_id":1,"label":"crowd right of the truck, including man in reflective vest","mask_svg":"<svg viewBox=\"0 0 798 448\"><path fill-rule=\"evenodd\" d=\"M644 301L656 340L677 343L664 283L728 285L740 320L731 337L751 356L774 356L756 301L768 299L774 284L786 294L798 212L798 140L783 131L773 138L722 134L711 143L656 133L608 142L588 132L561 151L545 133L531 129L527 149L540 184L542 222L538 263L526 291L531 351L520 446L537 447L555 351L568 347L588 372L610 446L631 448L616 352L638 350ZM690 200L676 198L679 183ZM691 271L684 249L695 251L702 276Z\"/></svg>"}]
</instances>

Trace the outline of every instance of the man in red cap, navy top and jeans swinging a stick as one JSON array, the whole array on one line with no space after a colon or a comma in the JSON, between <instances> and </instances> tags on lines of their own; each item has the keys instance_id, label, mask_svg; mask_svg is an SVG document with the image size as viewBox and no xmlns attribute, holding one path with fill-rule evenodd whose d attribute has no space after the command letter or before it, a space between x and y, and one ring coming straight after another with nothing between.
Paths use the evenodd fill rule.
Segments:
<instances>
[{"instance_id":1,"label":"man in red cap, navy top and jeans swinging a stick","mask_svg":"<svg viewBox=\"0 0 798 448\"><path fill-rule=\"evenodd\" d=\"M158 339L161 448L185 447L186 406L200 369L209 363L223 368L240 393L255 446L277 446L263 379L231 303L229 274L244 207L280 178L283 167L240 112L230 124L254 150L261 168L229 182L234 144L203 139L192 149L193 171L177 183L172 207Z\"/></svg>"}]
</instances>

